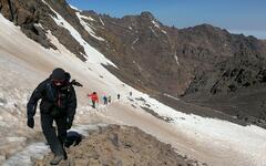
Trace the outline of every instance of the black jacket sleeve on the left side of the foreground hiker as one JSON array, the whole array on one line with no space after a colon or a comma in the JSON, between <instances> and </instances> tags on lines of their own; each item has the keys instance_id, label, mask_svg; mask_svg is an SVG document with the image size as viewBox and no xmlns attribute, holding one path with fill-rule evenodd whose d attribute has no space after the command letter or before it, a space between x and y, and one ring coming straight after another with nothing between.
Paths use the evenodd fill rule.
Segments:
<instances>
[{"instance_id":1,"label":"black jacket sleeve on the left side of the foreground hiker","mask_svg":"<svg viewBox=\"0 0 266 166\"><path fill-rule=\"evenodd\" d=\"M44 83L40 83L38 87L31 94L30 101L27 104L27 115L28 117L33 117L35 115L38 101L42 97L44 91Z\"/></svg>"}]
</instances>

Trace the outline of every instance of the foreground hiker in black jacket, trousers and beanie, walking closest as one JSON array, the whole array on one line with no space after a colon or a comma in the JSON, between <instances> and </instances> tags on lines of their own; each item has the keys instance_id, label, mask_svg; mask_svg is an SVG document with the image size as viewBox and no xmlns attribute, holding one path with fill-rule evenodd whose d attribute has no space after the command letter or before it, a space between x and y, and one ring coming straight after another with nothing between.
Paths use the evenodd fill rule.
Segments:
<instances>
[{"instance_id":1,"label":"foreground hiker in black jacket, trousers and beanie, walking closest","mask_svg":"<svg viewBox=\"0 0 266 166\"><path fill-rule=\"evenodd\" d=\"M50 77L38 85L27 104L28 126L33 128L33 116L38 101L41 100L41 127L54 154L54 158L50 162L51 165L58 165L63 158L68 158L63 145L66 129L72 126L76 108L75 91L69 81L69 73L60 68L54 69ZM53 121L55 121L58 131L52 126Z\"/></svg>"}]
</instances>

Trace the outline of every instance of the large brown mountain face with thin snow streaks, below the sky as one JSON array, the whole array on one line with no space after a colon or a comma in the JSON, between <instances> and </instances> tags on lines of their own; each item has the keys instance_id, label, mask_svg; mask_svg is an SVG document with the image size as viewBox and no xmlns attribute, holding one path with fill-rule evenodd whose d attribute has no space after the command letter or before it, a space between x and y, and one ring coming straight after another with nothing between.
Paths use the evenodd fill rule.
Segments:
<instances>
[{"instance_id":1,"label":"large brown mountain face with thin snow streaks, below the sky","mask_svg":"<svg viewBox=\"0 0 266 166\"><path fill-rule=\"evenodd\" d=\"M109 70L150 94L177 96L198 91L192 90L195 77L214 73L217 65L238 56L253 63L252 59L264 59L266 52L265 43L253 37L233 35L208 24L177 30L163 25L149 12L122 19L92 11L82 14L94 19L85 21L108 41L105 46L95 46L120 69Z\"/></svg>"}]
</instances>

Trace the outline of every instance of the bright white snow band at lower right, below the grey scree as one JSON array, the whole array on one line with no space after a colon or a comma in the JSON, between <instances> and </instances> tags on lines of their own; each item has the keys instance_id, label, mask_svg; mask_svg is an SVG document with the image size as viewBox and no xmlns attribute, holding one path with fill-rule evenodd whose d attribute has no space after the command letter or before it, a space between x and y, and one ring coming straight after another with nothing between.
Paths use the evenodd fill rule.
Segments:
<instances>
[{"instance_id":1,"label":"bright white snow band at lower right, below the grey scree","mask_svg":"<svg viewBox=\"0 0 266 166\"><path fill-rule=\"evenodd\" d=\"M243 156L243 163L248 162L258 166L266 164L266 131L254 126L241 126L231 122L202 117L177 112L146 94L134 92L130 101L135 107L146 107L162 117L170 117L171 125L178 133L202 143L213 149L236 152ZM140 112L140 111L139 111Z\"/></svg>"}]
</instances>

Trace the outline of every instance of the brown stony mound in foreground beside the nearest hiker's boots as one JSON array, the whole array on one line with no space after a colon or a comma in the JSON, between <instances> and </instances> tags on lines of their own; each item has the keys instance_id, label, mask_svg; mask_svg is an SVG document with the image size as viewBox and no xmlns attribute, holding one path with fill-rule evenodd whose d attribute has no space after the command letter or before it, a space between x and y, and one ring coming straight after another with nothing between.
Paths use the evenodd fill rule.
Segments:
<instances>
[{"instance_id":1,"label":"brown stony mound in foreground beside the nearest hiker's boots","mask_svg":"<svg viewBox=\"0 0 266 166\"><path fill-rule=\"evenodd\" d=\"M109 125L90 132L80 145L66 149L69 159L60 166L197 166L204 165L181 156L170 145L136 127ZM35 166L49 166L49 154Z\"/></svg>"}]
</instances>

